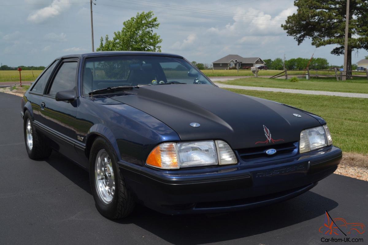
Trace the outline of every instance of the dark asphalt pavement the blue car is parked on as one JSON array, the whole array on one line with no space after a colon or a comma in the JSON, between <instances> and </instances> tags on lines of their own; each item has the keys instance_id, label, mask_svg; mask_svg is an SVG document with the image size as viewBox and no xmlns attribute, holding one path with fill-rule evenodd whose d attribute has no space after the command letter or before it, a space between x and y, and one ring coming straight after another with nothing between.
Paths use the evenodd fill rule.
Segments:
<instances>
[{"instance_id":1,"label":"dark asphalt pavement the blue car is parked on","mask_svg":"<svg viewBox=\"0 0 368 245\"><path fill-rule=\"evenodd\" d=\"M138 206L127 219L105 219L84 170L58 154L28 158L20 100L0 93L0 244L321 244L325 210L368 225L368 182L336 174L263 208L167 216ZM367 232L359 238L367 242Z\"/></svg>"}]
</instances>

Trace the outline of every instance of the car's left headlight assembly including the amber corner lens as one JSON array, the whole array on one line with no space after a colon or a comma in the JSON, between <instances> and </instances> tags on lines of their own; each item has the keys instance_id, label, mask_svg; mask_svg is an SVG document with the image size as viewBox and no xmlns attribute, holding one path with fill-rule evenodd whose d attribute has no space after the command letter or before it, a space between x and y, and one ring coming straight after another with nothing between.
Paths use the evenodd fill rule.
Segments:
<instances>
[{"instance_id":1,"label":"car's left headlight assembly including the amber corner lens","mask_svg":"<svg viewBox=\"0 0 368 245\"><path fill-rule=\"evenodd\" d=\"M161 169L237 163L230 145L222 140L162 143L147 158L147 165Z\"/></svg>"}]
</instances>

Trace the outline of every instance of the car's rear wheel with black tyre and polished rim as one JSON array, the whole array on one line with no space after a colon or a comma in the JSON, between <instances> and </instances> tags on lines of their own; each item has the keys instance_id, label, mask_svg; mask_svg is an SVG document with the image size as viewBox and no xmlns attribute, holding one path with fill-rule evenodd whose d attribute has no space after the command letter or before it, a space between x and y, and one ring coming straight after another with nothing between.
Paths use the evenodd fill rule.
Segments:
<instances>
[{"instance_id":1,"label":"car's rear wheel with black tyre and polished rim","mask_svg":"<svg viewBox=\"0 0 368 245\"><path fill-rule=\"evenodd\" d=\"M33 125L33 118L29 111L24 113L24 141L29 158L45 159L51 155L52 149L47 145Z\"/></svg>"}]
</instances>

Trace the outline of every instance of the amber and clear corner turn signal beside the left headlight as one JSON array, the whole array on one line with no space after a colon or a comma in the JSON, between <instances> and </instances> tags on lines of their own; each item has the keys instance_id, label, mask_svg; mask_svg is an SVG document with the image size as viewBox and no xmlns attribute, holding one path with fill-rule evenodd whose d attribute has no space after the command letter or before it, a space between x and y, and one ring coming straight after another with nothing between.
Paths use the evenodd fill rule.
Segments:
<instances>
[{"instance_id":1,"label":"amber and clear corner turn signal beside the left headlight","mask_svg":"<svg viewBox=\"0 0 368 245\"><path fill-rule=\"evenodd\" d=\"M161 169L178 169L175 143L163 143L156 146L147 158L147 165Z\"/></svg>"}]
</instances>

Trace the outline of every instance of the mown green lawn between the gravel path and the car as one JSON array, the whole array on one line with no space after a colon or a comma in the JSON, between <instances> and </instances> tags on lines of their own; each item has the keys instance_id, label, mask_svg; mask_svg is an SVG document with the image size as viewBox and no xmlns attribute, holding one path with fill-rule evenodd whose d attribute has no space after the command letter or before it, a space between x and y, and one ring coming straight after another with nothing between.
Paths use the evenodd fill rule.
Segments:
<instances>
[{"instance_id":1,"label":"mown green lawn between the gravel path and the car","mask_svg":"<svg viewBox=\"0 0 368 245\"><path fill-rule=\"evenodd\" d=\"M227 89L239 94L292 105L322 116L330 127L333 144L346 152L368 153L368 100L335 96Z\"/></svg>"}]
</instances>

